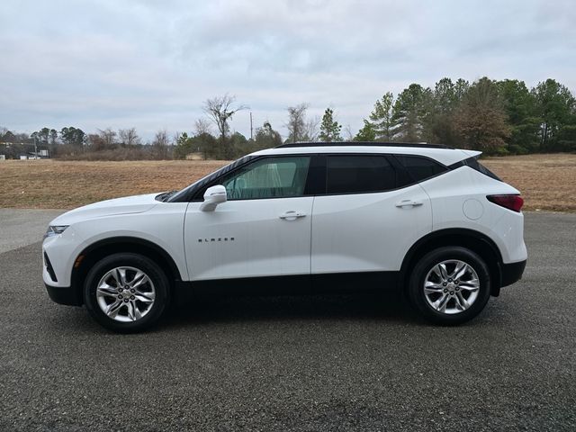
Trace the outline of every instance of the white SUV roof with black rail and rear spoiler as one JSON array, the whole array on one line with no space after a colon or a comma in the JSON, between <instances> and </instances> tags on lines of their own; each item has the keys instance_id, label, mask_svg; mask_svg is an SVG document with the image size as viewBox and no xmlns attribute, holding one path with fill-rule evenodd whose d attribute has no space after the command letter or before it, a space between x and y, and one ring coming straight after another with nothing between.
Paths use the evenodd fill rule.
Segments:
<instances>
[{"instance_id":1,"label":"white SUV roof with black rail and rear spoiler","mask_svg":"<svg viewBox=\"0 0 576 432\"><path fill-rule=\"evenodd\" d=\"M392 154L417 155L430 157L448 166L482 154L481 151L449 148L439 145L426 145L419 143L295 143L297 145L283 145L276 148L267 148L252 153L254 156L276 155L302 155L302 154ZM379 145L380 144L380 145Z\"/></svg>"}]
</instances>

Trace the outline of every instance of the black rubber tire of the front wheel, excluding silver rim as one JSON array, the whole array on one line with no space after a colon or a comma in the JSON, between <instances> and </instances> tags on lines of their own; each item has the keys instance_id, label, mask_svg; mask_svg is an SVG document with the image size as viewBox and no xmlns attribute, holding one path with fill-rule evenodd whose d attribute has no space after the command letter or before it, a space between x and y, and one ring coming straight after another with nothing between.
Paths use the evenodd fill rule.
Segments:
<instances>
[{"instance_id":1,"label":"black rubber tire of the front wheel, excluding silver rim","mask_svg":"<svg viewBox=\"0 0 576 432\"><path fill-rule=\"evenodd\" d=\"M133 267L139 269L148 276L149 281L151 282L151 284L148 284L148 290L150 290L149 286L153 286L155 292L154 301L148 309L146 309L148 306L146 303L139 303L139 305L142 306L142 309L146 309L146 313L137 320L130 322L114 320L104 313L98 303L96 296L98 284L104 275L116 267ZM129 272L127 272L127 274ZM127 292L124 290L124 293ZM166 274L162 269L148 257L143 257L133 253L119 253L113 254L109 257L104 257L88 272L84 284L84 302L86 309L100 325L118 333L139 332L154 325L157 320L162 317L164 311L166 311L166 306L169 302L169 293L169 283ZM111 298L112 299L110 300L106 300L106 302L115 302L112 296ZM137 302L137 300L134 302ZM120 318L122 318L124 313L126 315L129 313L128 306L120 306L118 309L118 315Z\"/></svg>"}]
</instances>

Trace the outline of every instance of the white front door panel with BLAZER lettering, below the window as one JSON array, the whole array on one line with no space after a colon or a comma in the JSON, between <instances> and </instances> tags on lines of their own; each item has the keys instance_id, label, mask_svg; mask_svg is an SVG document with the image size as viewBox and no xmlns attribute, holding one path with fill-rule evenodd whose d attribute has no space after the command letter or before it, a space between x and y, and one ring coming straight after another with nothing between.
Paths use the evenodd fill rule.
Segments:
<instances>
[{"instance_id":1,"label":"white front door panel with BLAZER lettering, below the window","mask_svg":"<svg viewBox=\"0 0 576 432\"><path fill-rule=\"evenodd\" d=\"M310 274L313 201L229 201L215 211L200 211L200 202L191 202L184 227L191 280ZM280 219L286 211L305 216Z\"/></svg>"}]
</instances>

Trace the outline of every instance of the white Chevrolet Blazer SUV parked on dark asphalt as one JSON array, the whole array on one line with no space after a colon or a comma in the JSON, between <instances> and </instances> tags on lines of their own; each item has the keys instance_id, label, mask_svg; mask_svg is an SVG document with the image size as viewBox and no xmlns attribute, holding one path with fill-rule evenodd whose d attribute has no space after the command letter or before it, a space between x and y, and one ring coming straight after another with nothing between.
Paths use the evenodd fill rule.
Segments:
<instances>
[{"instance_id":1,"label":"white Chevrolet Blazer SUV parked on dark asphalt","mask_svg":"<svg viewBox=\"0 0 576 432\"><path fill-rule=\"evenodd\" d=\"M50 223L50 298L148 328L178 293L398 287L428 320L476 316L527 260L523 200L480 152L296 143L181 191L97 202Z\"/></svg>"}]
</instances>

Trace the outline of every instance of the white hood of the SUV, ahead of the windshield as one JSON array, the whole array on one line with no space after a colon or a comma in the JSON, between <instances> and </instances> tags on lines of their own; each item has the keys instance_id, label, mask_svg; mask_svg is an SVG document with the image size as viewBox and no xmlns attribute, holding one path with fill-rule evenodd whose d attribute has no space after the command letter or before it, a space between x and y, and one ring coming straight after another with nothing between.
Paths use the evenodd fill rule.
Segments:
<instances>
[{"instance_id":1,"label":"white hood of the SUV, ahead of the windshield","mask_svg":"<svg viewBox=\"0 0 576 432\"><path fill-rule=\"evenodd\" d=\"M118 214L141 213L150 210L158 202L155 199L158 193L126 196L101 202L94 202L77 209L61 214L50 225L72 225L81 220L101 218Z\"/></svg>"}]
</instances>

